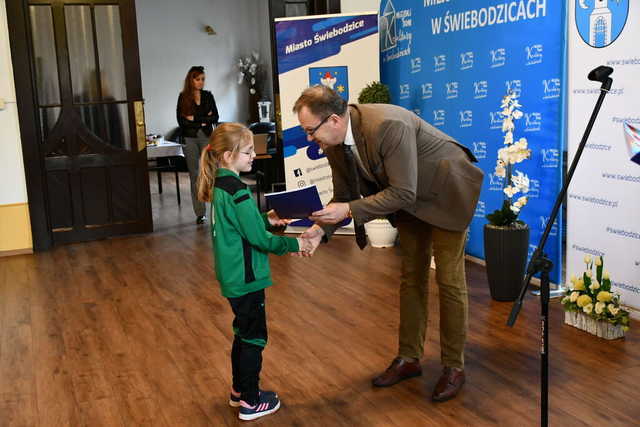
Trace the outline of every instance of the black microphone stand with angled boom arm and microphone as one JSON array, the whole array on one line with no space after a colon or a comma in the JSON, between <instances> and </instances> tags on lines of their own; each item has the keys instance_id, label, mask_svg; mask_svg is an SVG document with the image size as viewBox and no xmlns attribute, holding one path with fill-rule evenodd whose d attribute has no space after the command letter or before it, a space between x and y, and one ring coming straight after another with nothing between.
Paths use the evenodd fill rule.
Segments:
<instances>
[{"instance_id":1,"label":"black microphone stand with angled boom arm and microphone","mask_svg":"<svg viewBox=\"0 0 640 427\"><path fill-rule=\"evenodd\" d=\"M603 65L599 66L589 73L589 80L602 82L602 86L600 87L600 96L598 97L596 106L593 109L593 113L591 114L589 123L587 124L587 129L584 131L584 135L582 136L582 140L580 141L580 145L578 146L578 151L576 151L576 155L571 162L571 167L567 172L567 178L564 182L564 185L562 186L562 190L560 190L560 193L556 198L556 202L553 205L551 217L549 218L544 232L542 233L538 248L531 256L531 260L529 261L529 265L527 266L527 275L525 276L524 282L522 283L520 294L518 295L516 301L513 303L513 308L511 309L511 314L509 315L509 320L507 321L508 326L514 325L514 323L516 322L516 318L518 317L518 313L522 308L522 301L527 292L527 288L529 287L529 282L531 281L531 278L534 274L540 273L540 331L542 334L542 345L540 346L540 425L544 427L549 424L549 272L553 269L553 263L550 259L547 258L547 254L544 253L544 245L547 243L547 238L549 237L549 233L551 232L551 227L553 226L553 223L558 216L560 206L562 205L562 202L564 201L564 198L567 194L569 183L571 183L573 173L576 170L576 166L578 166L578 161L580 160L580 156L582 155L584 146L586 145L589 134L591 133L593 123L596 121L596 116L600 111L600 107L602 106L604 97L609 92L611 84L613 83L613 80L611 79L611 77L609 77L611 73L613 73L613 68L605 67Z\"/></svg>"}]
</instances>

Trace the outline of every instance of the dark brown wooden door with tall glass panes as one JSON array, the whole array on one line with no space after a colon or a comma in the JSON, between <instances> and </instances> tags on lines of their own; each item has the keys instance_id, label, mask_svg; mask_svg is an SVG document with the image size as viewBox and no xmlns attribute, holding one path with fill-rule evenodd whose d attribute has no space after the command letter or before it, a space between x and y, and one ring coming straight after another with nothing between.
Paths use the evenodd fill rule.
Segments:
<instances>
[{"instance_id":1,"label":"dark brown wooden door with tall glass panes","mask_svg":"<svg viewBox=\"0 0 640 427\"><path fill-rule=\"evenodd\" d=\"M151 231L133 0L7 12L34 248Z\"/></svg>"}]
</instances>

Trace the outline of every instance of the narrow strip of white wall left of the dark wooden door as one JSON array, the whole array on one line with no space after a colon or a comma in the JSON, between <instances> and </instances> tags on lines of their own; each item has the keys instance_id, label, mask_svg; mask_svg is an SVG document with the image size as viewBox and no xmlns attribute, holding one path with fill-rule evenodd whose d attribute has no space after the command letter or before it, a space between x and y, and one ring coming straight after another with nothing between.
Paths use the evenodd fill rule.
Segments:
<instances>
[{"instance_id":1,"label":"narrow strip of white wall left of the dark wooden door","mask_svg":"<svg viewBox=\"0 0 640 427\"><path fill-rule=\"evenodd\" d=\"M27 202L16 93L13 84L6 0L0 0L0 205Z\"/></svg>"}]
</instances>

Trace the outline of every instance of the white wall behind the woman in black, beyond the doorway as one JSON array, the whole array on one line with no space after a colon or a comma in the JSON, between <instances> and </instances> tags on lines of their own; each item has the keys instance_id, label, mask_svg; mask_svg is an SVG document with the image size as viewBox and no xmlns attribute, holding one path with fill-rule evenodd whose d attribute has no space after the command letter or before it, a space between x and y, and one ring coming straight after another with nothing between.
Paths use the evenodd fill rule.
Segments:
<instances>
[{"instance_id":1,"label":"white wall behind the woman in black, beyond the doorway","mask_svg":"<svg viewBox=\"0 0 640 427\"><path fill-rule=\"evenodd\" d=\"M222 121L248 119L248 88L237 84L241 55L260 52L272 97L268 2L137 0L136 15L148 133L177 126L176 102L192 65L205 67L205 89L216 98ZM217 35L207 35L205 25Z\"/></svg>"}]
</instances>

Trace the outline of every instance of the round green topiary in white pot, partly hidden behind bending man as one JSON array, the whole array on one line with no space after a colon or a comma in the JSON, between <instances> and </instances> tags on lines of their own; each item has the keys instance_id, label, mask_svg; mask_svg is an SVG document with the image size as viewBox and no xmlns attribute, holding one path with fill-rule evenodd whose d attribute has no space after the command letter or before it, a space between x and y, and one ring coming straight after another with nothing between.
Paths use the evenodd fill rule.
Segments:
<instances>
[{"instance_id":1,"label":"round green topiary in white pot, partly hidden behind bending man","mask_svg":"<svg viewBox=\"0 0 640 427\"><path fill-rule=\"evenodd\" d=\"M358 95L359 104L388 104L391 102L389 87L379 81L365 86ZM398 230L386 218L377 218L364 225L369 243L373 248L387 248L395 245Z\"/></svg>"}]
</instances>

